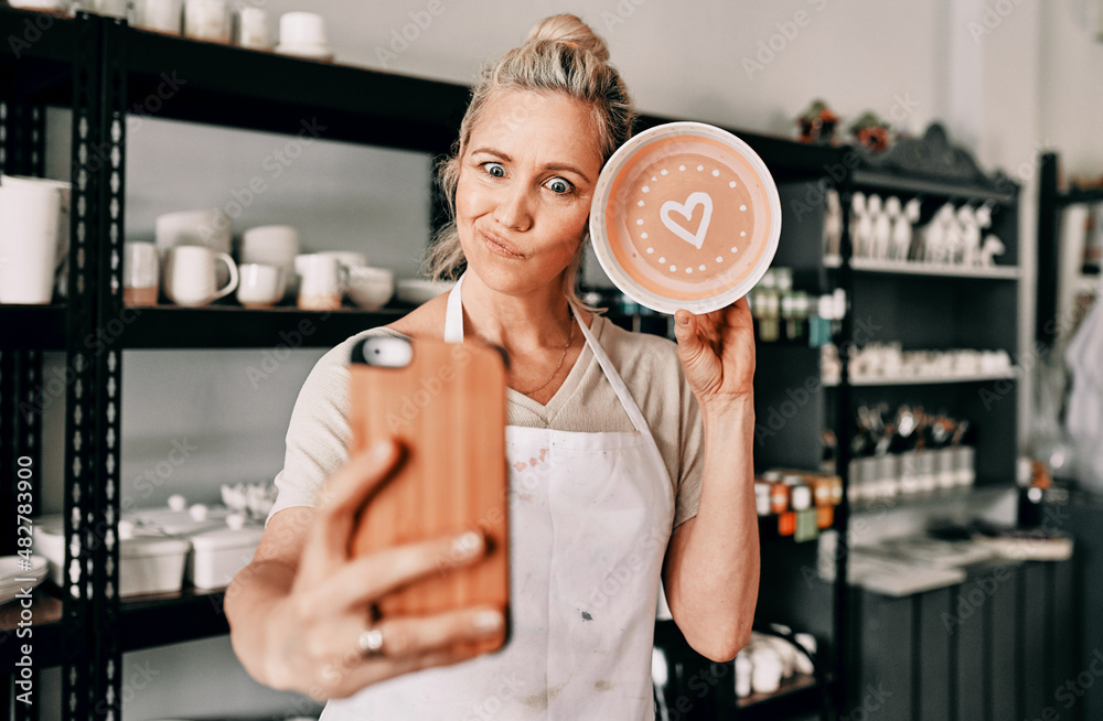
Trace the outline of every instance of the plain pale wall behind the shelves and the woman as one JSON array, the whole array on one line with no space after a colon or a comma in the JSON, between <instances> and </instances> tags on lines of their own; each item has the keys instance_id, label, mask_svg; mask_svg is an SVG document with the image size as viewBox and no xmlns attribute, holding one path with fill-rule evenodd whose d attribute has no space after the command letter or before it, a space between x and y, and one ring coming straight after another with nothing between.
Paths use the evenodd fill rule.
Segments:
<instances>
[{"instance_id":1,"label":"plain pale wall behind the shelves and the woman","mask_svg":"<svg viewBox=\"0 0 1103 721\"><path fill-rule=\"evenodd\" d=\"M989 170L1003 165L1016 174L1019 165L1034 162L1043 141L1062 151L1065 168L1103 173L1097 130L1103 45L1083 28L1091 3L1002 1L1013 11L983 35L968 25L983 21L982 0L443 0L443 14L416 33L410 23L418 18L424 23L427 15L417 13L428 0L253 4L274 15L307 6L324 13L342 62L382 68L381 50L399 50L386 58L389 69L464 83L484 58L521 42L539 18L577 12L606 37L646 112L791 136L792 119L816 97L827 99L844 122L866 109L884 116L907 107L911 130L945 119ZM416 39L406 47L392 46L393 33L404 26ZM772 51L763 50L771 43ZM54 176L66 173L67 133L64 114L51 114ZM162 212L225 207L235 189L264 172L264 158L282 142L263 133L144 121L129 138L128 237L150 237L153 217ZM1035 196L1027 174L1020 174L1028 183L1020 258L1029 276ZM364 249L374 262L411 275L428 233L428 184L424 157L319 142L269 183L235 228L291 223L302 228L308 249ZM1020 312L1029 316L1032 279L1024 289ZM1021 333L1026 343L1029 319ZM264 354L126 354L124 503L162 503L170 493L213 501L219 483L268 478L279 470L291 405L320 352L296 353L270 381L254 388L245 373ZM200 451L147 495L135 480L156 470L182 438ZM56 507L60 463L46 469L54 470ZM227 710L251 708L258 714L287 706L286 697L259 691L234 670L225 642L131 655L126 665L146 659L172 672L153 687L163 693L144 692L127 706L128 719L211 713L218 699ZM212 663L219 670L214 684L204 671Z\"/></svg>"}]
</instances>

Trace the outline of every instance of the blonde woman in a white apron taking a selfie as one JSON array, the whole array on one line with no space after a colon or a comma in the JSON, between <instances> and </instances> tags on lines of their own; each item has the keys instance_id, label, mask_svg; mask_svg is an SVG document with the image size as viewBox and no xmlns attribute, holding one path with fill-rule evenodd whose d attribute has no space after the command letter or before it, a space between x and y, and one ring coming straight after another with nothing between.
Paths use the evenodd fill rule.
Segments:
<instances>
[{"instance_id":1,"label":"blonde woman in a white apron taking a selfie","mask_svg":"<svg viewBox=\"0 0 1103 721\"><path fill-rule=\"evenodd\" d=\"M730 659L749 637L759 550L746 300L678 311L675 348L622 331L574 293L598 173L634 119L608 58L581 20L556 15L486 66L442 166L453 222L430 258L438 275L464 260L467 271L447 295L366 332L502 346L511 461L555 450L542 480L511 494L503 650L473 660L442 650L500 635L492 609L370 624L374 599L435 572L441 557L478 562L483 539L350 559L356 513L399 452L383 443L346 458L356 338L326 354L300 392L279 498L226 611L255 678L351 697L329 703L325 719L651 718L661 578L698 652ZM511 462L514 489L524 465Z\"/></svg>"}]
</instances>

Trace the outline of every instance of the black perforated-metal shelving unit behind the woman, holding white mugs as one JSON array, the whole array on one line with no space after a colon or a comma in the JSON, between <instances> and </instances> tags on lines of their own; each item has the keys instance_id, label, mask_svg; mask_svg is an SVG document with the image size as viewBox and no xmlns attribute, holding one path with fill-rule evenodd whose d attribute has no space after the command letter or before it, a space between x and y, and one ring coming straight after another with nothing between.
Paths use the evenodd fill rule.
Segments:
<instances>
[{"instance_id":1,"label":"black perforated-metal shelving unit behind the woman, holding white mugs","mask_svg":"<svg viewBox=\"0 0 1103 721\"><path fill-rule=\"evenodd\" d=\"M0 464L7 472L18 458L30 455L41 467L39 415L24 417L17 409L20 401L34 400L42 351L64 351L66 368L72 369L64 390L65 534L67 547L77 550L71 559L75 573L58 598L43 595L36 606L35 660L40 667L62 667L66 719L86 719L93 710L118 718L124 653L227 631L222 594L185 590L119 599L115 593L119 563L114 539L125 442L122 351L277 346L296 331L301 336L298 347L329 347L405 312L124 308L128 114L146 109L170 120L292 138L310 133L436 155L456 137L469 88L148 33L98 15L61 19L0 8L3 36L22 37L28 23L41 29L33 42L0 49L2 170L42 175L45 108L72 109L75 212L67 301L45 308L0 306ZM638 129L674 119L644 116ZM737 132L781 181L815 181L840 154L838 149ZM666 318L610 318L633 330L668 332ZM313 332L301 333L302 324ZM110 331L107 336L95 335L105 329ZM89 337L101 342L89 344ZM4 487L0 512L9 509L10 495ZM0 616L0 628L8 625ZM0 658L10 649L4 647ZM740 713L756 718L802 704L815 710L825 691L838 688L834 680L805 684L780 700L745 702ZM25 711L17 707L17 713Z\"/></svg>"}]
</instances>

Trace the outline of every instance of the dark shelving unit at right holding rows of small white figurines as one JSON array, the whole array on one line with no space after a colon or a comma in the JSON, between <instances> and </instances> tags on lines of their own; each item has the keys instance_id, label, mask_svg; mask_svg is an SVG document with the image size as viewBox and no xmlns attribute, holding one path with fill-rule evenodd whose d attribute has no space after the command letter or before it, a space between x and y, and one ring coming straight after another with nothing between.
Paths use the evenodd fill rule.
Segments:
<instances>
[{"instance_id":1,"label":"dark shelving unit at right holding rows of small white figurines","mask_svg":"<svg viewBox=\"0 0 1103 721\"><path fill-rule=\"evenodd\" d=\"M1014 357L1020 278L1015 247L1018 186L1000 175L989 177L982 173L968 153L950 144L938 126L932 126L922 138L901 140L879 157L854 148L839 152L836 164L825 165L815 185L779 182L782 207L794 217L786 217L783 223L773 263L792 269L794 288L813 293L829 293L840 288L846 292L847 313L834 338L835 345L899 342L904 349L1004 349ZM850 170L843 172L843 169ZM822 228L827 189L839 194L843 232L839 255L824 257ZM1007 251L999 258L1000 265L992 268L855 258L850 201L859 191L898 195L901 201L920 198L919 226L927 224L938 207L947 202L987 203L993 209L992 232L1000 237ZM931 508L1014 487L1015 373L968 378L854 379L848 354L842 353L838 381L824 384L820 356L818 348L759 343L754 453L756 469L760 472L778 466L821 467L822 437L829 432L837 441L836 469L848 489L850 428L854 409L863 403L899 405L918 398L933 409L983 421L976 449L975 488L855 505L847 499L836 508L840 538L847 538L852 514ZM982 398L989 399L989 407ZM998 412L992 412L993 403L999 403ZM835 555L835 579L847 578L846 557L845 552ZM817 561L814 548L763 555L763 578L769 567L771 580L793 577L797 580L763 585L759 603L767 604L781 623L803 625L817 636L833 639L828 653L837 669L834 698L836 702L843 700L837 708L854 709L861 700L860 684L866 668L861 665L861 637L856 631L863 623L864 611L855 605L860 596L845 582L817 582L802 577L807 569L816 569ZM834 611L824 613L823 607Z\"/></svg>"}]
</instances>

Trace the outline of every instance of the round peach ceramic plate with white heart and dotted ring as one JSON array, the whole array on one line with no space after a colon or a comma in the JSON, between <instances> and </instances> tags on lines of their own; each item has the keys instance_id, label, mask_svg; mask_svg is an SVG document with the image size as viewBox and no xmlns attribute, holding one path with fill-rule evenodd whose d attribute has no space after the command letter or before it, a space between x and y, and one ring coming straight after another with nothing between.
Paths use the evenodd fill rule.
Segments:
<instances>
[{"instance_id":1,"label":"round peach ceramic plate with white heart and dotted ring","mask_svg":"<svg viewBox=\"0 0 1103 721\"><path fill-rule=\"evenodd\" d=\"M726 130L671 122L613 153L590 238L613 283L645 308L707 313L739 300L778 249L781 200L762 159Z\"/></svg>"}]
</instances>

